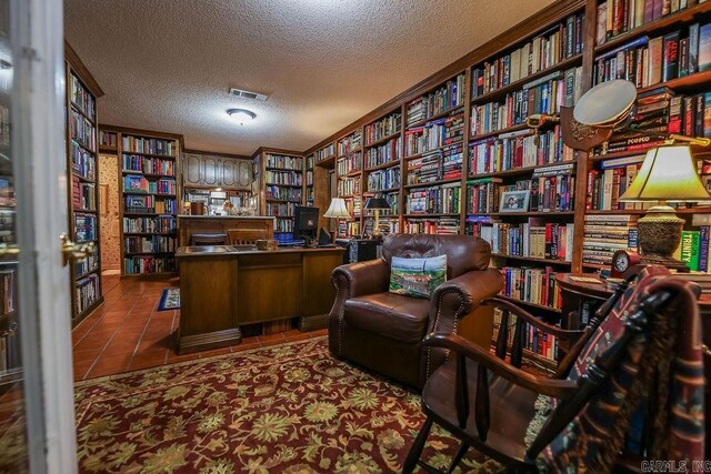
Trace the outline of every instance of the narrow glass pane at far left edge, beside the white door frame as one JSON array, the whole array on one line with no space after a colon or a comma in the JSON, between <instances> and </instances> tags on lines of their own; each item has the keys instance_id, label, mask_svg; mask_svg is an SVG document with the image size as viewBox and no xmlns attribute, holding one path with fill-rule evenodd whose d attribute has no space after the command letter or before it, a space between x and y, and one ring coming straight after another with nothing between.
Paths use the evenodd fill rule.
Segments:
<instances>
[{"instance_id":1,"label":"narrow glass pane at far left edge, beside the white door frame","mask_svg":"<svg viewBox=\"0 0 711 474\"><path fill-rule=\"evenodd\" d=\"M11 130L13 63L10 0L0 0L0 472L27 472L21 321L16 301L18 239Z\"/></svg>"}]
</instances>

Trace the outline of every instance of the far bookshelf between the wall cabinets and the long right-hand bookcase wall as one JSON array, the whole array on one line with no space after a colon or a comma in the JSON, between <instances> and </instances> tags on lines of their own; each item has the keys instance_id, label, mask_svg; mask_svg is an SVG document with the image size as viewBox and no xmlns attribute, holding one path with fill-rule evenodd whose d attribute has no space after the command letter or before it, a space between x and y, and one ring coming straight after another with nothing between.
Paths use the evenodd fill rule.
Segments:
<instances>
[{"instance_id":1,"label":"far bookshelf between the wall cabinets and the long right-hand bookcase wall","mask_svg":"<svg viewBox=\"0 0 711 474\"><path fill-rule=\"evenodd\" d=\"M274 233L291 234L297 205L306 202L304 154L290 150L260 148L252 155L254 189L260 215L276 218Z\"/></svg>"}]
</instances>

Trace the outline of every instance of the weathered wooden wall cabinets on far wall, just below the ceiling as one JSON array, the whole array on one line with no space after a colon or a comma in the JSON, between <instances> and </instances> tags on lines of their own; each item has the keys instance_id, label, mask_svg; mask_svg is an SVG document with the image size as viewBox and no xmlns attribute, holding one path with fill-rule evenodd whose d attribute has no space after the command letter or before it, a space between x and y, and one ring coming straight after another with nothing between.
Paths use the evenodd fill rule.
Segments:
<instances>
[{"instance_id":1,"label":"weathered wooden wall cabinets on far wall, just below the ceiling","mask_svg":"<svg viewBox=\"0 0 711 474\"><path fill-rule=\"evenodd\" d=\"M189 188L249 189L252 161L248 158L187 152L183 158L184 185Z\"/></svg>"}]
</instances>

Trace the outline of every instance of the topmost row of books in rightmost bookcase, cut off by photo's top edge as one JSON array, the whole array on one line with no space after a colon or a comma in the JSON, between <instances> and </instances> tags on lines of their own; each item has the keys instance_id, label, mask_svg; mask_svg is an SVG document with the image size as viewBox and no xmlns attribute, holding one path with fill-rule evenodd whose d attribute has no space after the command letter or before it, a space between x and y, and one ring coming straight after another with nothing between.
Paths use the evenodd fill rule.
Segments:
<instances>
[{"instance_id":1,"label":"topmost row of books in rightmost bookcase, cut off by photo's top edge","mask_svg":"<svg viewBox=\"0 0 711 474\"><path fill-rule=\"evenodd\" d=\"M595 44L705 0L605 0L598 4Z\"/></svg>"}]
</instances>

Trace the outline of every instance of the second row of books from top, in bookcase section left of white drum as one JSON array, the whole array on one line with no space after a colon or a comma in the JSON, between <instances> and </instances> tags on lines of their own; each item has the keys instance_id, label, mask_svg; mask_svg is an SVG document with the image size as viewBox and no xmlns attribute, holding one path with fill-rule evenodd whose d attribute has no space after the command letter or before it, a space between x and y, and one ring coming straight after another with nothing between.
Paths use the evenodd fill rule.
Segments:
<instances>
[{"instance_id":1,"label":"second row of books from top, in bookcase section left of white drum","mask_svg":"<svg viewBox=\"0 0 711 474\"><path fill-rule=\"evenodd\" d=\"M471 109L472 137L525 123L529 115L554 114L572 107L582 92L582 67L555 71L508 93L503 102L475 104Z\"/></svg>"}]
</instances>

